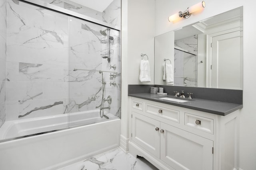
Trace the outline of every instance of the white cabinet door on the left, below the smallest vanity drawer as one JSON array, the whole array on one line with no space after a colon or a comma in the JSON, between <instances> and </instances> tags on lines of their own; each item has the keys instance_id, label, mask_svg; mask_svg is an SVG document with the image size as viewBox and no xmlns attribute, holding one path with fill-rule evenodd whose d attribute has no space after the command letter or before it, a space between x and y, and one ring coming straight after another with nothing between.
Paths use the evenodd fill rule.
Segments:
<instances>
[{"instance_id":1,"label":"white cabinet door on the left, below the smallest vanity drawer","mask_svg":"<svg viewBox=\"0 0 256 170\"><path fill-rule=\"evenodd\" d=\"M132 112L132 141L160 158L160 121Z\"/></svg>"}]
</instances>

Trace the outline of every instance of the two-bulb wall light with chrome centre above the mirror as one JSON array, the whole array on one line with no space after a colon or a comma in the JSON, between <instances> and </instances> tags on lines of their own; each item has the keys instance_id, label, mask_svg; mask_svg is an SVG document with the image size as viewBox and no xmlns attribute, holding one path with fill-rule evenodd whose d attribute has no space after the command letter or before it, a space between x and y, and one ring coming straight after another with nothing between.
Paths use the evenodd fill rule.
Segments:
<instances>
[{"instance_id":1,"label":"two-bulb wall light with chrome centre above the mirror","mask_svg":"<svg viewBox=\"0 0 256 170\"><path fill-rule=\"evenodd\" d=\"M182 18L182 17L183 18L188 18L188 17L190 17L190 15L193 12L196 12L198 10L202 10L202 9L204 9L204 7L205 7L205 2L204 1L199 2L198 4L195 4L195 5L191 6L191 7L188 7L188 9L186 11L184 11L184 12L180 11L178 14L176 13L176 14L174 14L172 16L169 16L168 20L170 22L172 22L172 21L178 20L179 18Z\"/></svg>"}]
</instances>

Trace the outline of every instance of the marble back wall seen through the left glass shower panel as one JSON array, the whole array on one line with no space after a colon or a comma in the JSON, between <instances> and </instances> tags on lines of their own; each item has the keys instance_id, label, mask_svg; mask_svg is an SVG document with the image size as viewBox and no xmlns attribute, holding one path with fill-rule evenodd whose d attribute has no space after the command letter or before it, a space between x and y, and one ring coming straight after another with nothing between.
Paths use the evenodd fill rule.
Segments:
<instances>
[{"instance_id":1,"label":"marble back wall seen through the left glass shower panel","mask_svg":"<svg viewBox=\"0 0 256 170\"><path fill-rule=\"evenodd\" d=\"M6 120L65 113L68 16L7 2Z\"/></svg>"}]
</instances>

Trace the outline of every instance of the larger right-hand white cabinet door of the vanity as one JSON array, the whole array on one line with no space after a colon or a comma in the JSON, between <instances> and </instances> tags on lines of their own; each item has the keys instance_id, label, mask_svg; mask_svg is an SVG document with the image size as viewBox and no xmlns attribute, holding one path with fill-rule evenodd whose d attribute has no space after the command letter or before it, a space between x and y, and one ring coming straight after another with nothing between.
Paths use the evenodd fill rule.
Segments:
<instances>
[{"instance_id":1,"label":"larger right-hand white cabinet door of the vanity","mask_svg":"<svg viewBox=\"0 0 256 170\"><path fill-rule=\"evenodd\" d=\"M161 160L176 170L212 170L213 141L161 123Z\"/></svg>"}]
</instances>

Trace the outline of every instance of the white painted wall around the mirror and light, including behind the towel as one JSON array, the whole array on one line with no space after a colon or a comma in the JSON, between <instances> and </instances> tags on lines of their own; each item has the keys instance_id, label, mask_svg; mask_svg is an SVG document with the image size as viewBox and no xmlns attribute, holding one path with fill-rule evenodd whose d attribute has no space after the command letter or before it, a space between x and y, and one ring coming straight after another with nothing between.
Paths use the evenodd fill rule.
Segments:
<instances>
[{"instance_id":1,"label":"white painted wall around the mirror and light, including behind the towel","mask_svg":"<svg viewBox=\"0 0 256 170\"><path fill-rule=\"evenodd\" d=\"M179 27L189 25L211 16L244 6L244 107L240 111L240 168L243 170L256 169L256 114L255 114L255 84L256 58L254 55L256 39L256 23L252 12L256 6L254 0L205 0L206 8L203 12L193 14L186 20L170 23L168 16L189 6L198 3L198 0L122 0L122 10L126 8L127 14L122 18L122 135L127 137L128 126L128 97L127 85L140 84L139 62L140 53L149 54L153 61L153 30L155 24L156 34L160 35ZM124 4L126 3L126 6ZM142 8L143 7L143 8ZM151 11L150 11L151 10ZM154 12L156 10L156 12ZM154 16L156 15L156 16ZM124 17L124 16L122 16ZM153 18L155 17L155 23ZM125 27L124 23L127 24ZM152 29L152 30L151 30ZM124 35L124 33L126 33ZM149 41L148 41L149 40ZM125 62L125 63L124 63ZM151 72L153 76L153 72ZM151 84L154 84L153 82ZM125 117L126 116L126 117Z\"/></svg>"}]
</instances>

